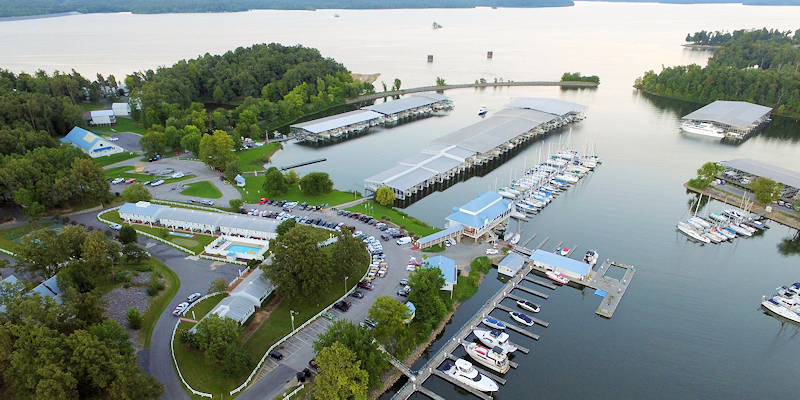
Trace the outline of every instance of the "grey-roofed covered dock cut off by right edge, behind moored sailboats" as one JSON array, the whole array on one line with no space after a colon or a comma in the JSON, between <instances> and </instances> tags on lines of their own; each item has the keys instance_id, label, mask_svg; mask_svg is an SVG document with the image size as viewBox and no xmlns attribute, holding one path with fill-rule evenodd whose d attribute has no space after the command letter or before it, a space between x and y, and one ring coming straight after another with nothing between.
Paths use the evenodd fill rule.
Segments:
<instances>
[{"instance_id":1,"label":"grey-roofed covered dock cut off by right edge, behind moored sailboats","mask_svg":"<svg viewBox=\"0 0 800 400\"><path fill-rule=\"evenodd\" d=\"M737 158L730 161L721 161L725 168L725 180L747 186L756 178L769 178L783 185L781 197L792 202L800 200L800 173L776 165L753 160L750 158Z\"/></svg>"}]
</instances>

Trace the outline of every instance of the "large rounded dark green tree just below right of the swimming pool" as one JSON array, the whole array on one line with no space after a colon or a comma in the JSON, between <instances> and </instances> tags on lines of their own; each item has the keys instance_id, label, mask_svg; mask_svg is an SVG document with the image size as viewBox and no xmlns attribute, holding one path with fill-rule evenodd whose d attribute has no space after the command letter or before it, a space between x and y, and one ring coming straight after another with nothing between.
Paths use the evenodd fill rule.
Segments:
<instances>
[{"instance_id":1,"label":"large rounded dark green tree just below right of the swimming pool","mask_svg":"<svg viewBox=\"0 0 800 400\"><path fill-rule=\"evenodd\" d=\"M331 285L328 257L317 247L316 235L307 229L291 229L270 243L272 263L264 274L289 301L319 301Z\"/></svg>"}]
</instances>

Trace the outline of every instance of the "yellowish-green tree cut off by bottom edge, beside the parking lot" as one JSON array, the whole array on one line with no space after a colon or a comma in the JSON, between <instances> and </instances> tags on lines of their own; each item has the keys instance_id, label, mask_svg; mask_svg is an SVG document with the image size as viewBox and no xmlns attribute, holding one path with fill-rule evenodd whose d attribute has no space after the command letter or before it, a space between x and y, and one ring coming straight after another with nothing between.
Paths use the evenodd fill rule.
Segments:
<instances>
[{"instance_id":1,"label":"yellowish-green tree cut off by bottom edge, beside the parking lot","mask_svg":"<svg viewBox=\"0 0 800 400\"><path fill-rule=\"evenodd\" d=\"M356 355L339 342L322 349L317 356L320 374L315 382L317 400L366 400L369 374Z\"/></svg>"}]
</instances>

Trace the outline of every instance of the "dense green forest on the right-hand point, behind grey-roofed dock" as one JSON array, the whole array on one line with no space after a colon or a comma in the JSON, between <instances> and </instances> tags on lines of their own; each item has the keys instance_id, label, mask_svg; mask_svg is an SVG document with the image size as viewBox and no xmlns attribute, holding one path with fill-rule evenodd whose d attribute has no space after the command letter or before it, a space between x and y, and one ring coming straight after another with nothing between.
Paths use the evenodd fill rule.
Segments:
<instances>
[{"instance_id":1,"label":"dense green forest on the right-hand point, behind grey-roofed dock","mask_svg":"<svg viewBox=\"0 0 800 400\"><path fill-rule=\"evenodd\" d=\"M634 87L645 92L711 103L737 100L773 107L777 114L800 115L800 37L776 30L737 31L708 60L645 72Z\"/></svg>"}]
</instances>

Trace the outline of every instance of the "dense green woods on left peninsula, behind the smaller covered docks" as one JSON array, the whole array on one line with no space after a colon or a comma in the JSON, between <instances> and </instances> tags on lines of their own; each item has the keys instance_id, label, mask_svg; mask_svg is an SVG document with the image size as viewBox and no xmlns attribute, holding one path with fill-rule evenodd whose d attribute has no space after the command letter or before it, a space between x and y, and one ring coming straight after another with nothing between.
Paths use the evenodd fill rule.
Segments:
<instances>
[{"instance_id":1,"label":"dense green woods on left peninsula, behind the smaller covered docks","mask_svg":"<svg viewBox=\"0 0 800 400\"><path fill-rule=\"evenodd\" d=\"M199 155L203 134L215 131L229 132L238 149L244 138L263 139L270 128L374 92L316 49L275 43L181 60L131 74L125 83L131 103L141 107L131 116L148 130L140 141L148 156L167 148ZM206 111L209 103L235 108Z\"/></svg>"}]
</instances>

